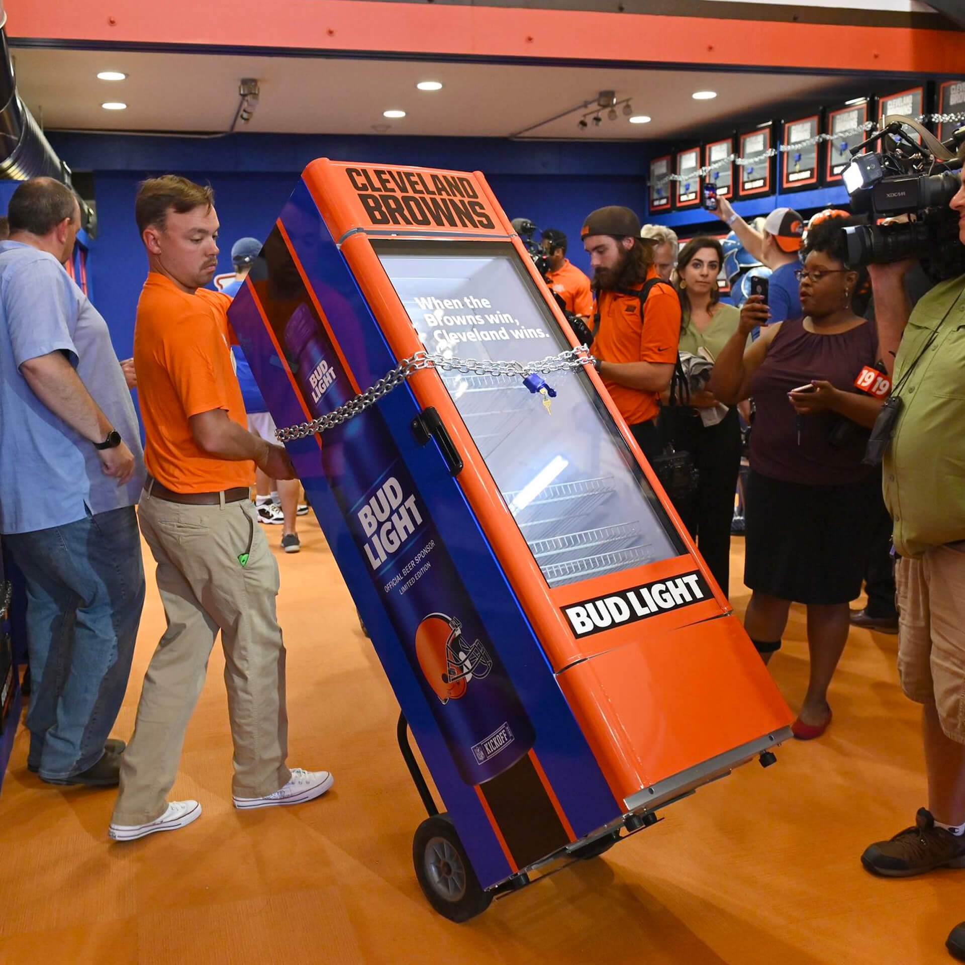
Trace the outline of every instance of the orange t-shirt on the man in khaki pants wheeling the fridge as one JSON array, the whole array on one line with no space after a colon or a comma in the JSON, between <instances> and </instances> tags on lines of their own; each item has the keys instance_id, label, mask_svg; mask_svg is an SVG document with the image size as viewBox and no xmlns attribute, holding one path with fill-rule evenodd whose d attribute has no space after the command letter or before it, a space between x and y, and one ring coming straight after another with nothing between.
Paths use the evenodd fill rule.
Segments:
<instances>
[{"instance_id":1,"label":"orange t-shirt on the man in khaki pants wheeling the fridge","mask_svg":"<svg viewBox=\"0 0 965 965\"><path fill-rule=\"evenodd\" d=\"M151 272L137 303L134 369L147 443L144 460L158 483L175 492L216 492L255 482L255 464L206 455L188 419L224 409L247 428L228 347L231 299L216 291L182 291Z\"/></svg>"}]
</instances>

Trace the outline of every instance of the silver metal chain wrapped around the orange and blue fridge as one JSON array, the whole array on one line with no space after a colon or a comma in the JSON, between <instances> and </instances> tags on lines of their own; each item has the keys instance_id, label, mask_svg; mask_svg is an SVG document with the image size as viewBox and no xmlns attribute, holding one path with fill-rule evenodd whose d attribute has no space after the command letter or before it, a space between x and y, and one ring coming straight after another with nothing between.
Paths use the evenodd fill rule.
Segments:
<instances>
[{"instance_id":1,"label":"silver metal chain wrapped around the orange and blue fridge","mask_svg":"<svg viewBox=\"0 0 965 965\"><path fill-rule=\"evenodd\" d=\"M506 375L512 378L526 378L527 375L548 374L549 372L576 371L585 365L593 365L593 357L586 345L579 348L569 348L559 355L547 355L538 362L503 362L490 359L446 358L443 355L433 355L425 350L418 351L407 359L403 359L395 369L386 372L372 388L333 409L327 415L313 419L311 422L299 423L297 426L280 428L275 433L280 442L291 442L294 439L304 439L306 436L326 429L341 426L353 416L365 412L378 400L387 396L393 389L401 385L415 372L424 369L441 369L448 372L461 372L464 375Z\"/></svg>"}]
</instances>

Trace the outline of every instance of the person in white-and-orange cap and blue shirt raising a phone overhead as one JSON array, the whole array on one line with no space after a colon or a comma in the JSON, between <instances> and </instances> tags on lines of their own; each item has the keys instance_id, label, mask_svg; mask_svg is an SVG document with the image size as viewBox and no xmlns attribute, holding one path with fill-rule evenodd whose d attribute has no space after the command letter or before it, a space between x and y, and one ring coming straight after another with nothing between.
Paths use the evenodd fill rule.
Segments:
<instances>
[{"instance_id":1,"label":"person in white-and-orange cap and blue shirt raising a phone overhead","mask_svg":"<svg viewBox=\"0 0 965 965\"><path fill-rule=\"evenodd\" d=\"M717 215L758 262L771 269L767 290L770 323L804 317L795 272L801 267L804 218L793 207L775 207L764 219L763 231L749 225L727 198L717 199Z\"/></svg>"}]
</instances>

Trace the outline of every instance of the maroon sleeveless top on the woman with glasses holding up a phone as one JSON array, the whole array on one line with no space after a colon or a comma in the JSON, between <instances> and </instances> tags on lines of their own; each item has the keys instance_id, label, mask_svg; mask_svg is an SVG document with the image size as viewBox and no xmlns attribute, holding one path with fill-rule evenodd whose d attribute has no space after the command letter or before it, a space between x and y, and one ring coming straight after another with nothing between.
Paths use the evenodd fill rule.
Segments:
<instances>
[{"instance_id":1,"label":"maroon sleeveless top on the woman with glasses holding up a phone","mask_svg":"<svg viewBox=\"0 0 965 965\"><path fill-rule=\"evenodd\" d=\"M861 460L868 430L855 427L844 445L834 446L828 435L843 417L820 412L798 418L787 393L814 378L857 392L854 380L864 366L873 366L877 357L873 322L839 335L815 335L805 329L803 318L783 322L751 380L751 397L757 407L751 468L771 479L807 485L857 483L867 476L870 467Z\"/></svg>"}]
</instances>

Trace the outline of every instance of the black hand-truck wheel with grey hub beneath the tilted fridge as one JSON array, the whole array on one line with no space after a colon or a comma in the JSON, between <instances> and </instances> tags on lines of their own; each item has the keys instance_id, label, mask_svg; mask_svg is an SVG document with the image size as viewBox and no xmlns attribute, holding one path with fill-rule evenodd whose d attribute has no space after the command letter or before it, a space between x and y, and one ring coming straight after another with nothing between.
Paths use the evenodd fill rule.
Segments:
<instances>
[{"instance_id":1,"label":"black hand-truck wheel with grey hub beneath the tilted fridge","mask_svg":"<svg viewBox=\"0 0 965 965\"><path fill-rule=\"evenodd\" d=\"M428 903L450 922L468 922L492 902L446 813L428 817L412 841L412 861Z\"/></svg>"}]
</instances>

